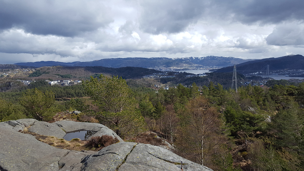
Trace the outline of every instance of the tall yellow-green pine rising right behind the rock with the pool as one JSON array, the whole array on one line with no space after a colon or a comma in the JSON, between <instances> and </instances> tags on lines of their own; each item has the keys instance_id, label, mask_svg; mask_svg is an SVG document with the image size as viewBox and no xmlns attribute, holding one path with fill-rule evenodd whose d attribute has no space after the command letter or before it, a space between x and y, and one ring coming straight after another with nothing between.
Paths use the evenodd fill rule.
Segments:
<instances>
[{"instance_id":1,"label":"tall yellow-green pine rising right behind the rock with the pool","mask_svg":"<svg viewBox=\"0 0 304 171\"><path fill-rule=\"evenodd\" d=\"M101 110L100 121L108 123L116 134L127 137L143 131L145 121L135 107L135 99L125 79L101 74L99 79L91 76L83 86L93 104Z\"/></svg>"}]
</instances>

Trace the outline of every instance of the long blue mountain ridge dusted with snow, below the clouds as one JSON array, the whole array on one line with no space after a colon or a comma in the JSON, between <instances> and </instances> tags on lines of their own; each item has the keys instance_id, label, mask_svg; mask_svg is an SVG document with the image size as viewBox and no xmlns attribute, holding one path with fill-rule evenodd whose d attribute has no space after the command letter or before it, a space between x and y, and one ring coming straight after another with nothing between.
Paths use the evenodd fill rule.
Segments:
<instances>
[{"instance_id":1,"label":"long blue mountain ridge dusted with snow, below the clouds","mask_svg":"<svg viewBox=\"0 0 304 171\"><path fill-rule=\"evenodd\" d=\"M240 59L233 57L187 57L187 58L107 58L87 62L56 62L56 61L39 61L39 62L21 62L15 65L25 65L33 67L43 66L103 66L110 68L120 67L142 67L153 69L199 69L204 67L226 67L233 64L240 64L254 59Z\"/></svg>"}]
</instances>

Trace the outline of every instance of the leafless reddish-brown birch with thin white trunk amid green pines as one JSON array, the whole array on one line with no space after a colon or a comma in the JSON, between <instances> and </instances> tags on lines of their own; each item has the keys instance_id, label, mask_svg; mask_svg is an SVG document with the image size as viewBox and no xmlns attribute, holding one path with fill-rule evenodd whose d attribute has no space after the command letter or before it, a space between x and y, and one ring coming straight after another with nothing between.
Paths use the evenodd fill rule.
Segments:
<instances>
[{"instance_id":1,"label":"leafless reddish-brown birch with thin white trunk amid green pines","mask_svg":"<svg viewBox=\"0 0 304 171\"><path fill-rule=\"evenodd\" d=\"M207 99L198 96L189 101L183 115L186 115L183 117L186 121L182 127L181 139L184 146L187 145L183 149L187 155L192 155L193 160L207 166L207 159L210 159L221 143L218 112L210 106Z\"/></svg>"}]
</instances>

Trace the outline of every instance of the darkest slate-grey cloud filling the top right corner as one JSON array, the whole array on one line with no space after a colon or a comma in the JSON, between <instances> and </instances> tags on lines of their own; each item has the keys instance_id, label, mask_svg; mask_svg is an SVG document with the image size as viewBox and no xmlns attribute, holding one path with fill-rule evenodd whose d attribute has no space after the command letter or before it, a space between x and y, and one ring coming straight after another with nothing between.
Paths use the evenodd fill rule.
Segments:
<instances>
[{"instance_id":1,"label":"darkest slate-grey cloud filling the top right corner","mask_svg":"<svg viewBox=\"0 0 304 171\"><path fill-rule=\"evenodd\" d=\"M210 1L215 16L242 23L279 23L289 19L303 20L303 0L234 0ZM214 16L213 15L213 16Z\"/></svg>"}]
</instances>

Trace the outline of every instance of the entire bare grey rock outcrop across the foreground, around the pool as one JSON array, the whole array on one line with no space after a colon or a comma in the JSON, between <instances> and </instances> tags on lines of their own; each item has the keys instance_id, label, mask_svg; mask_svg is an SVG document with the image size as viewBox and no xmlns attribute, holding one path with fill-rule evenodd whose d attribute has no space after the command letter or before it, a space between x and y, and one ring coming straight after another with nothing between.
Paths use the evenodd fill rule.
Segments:
<instances>
[{"instance_id":1,"label":"entire bare grey rock outcrop across the foreground, around the pool","mask_svg":"<svg viewBox=\"0 0 304 171\"><path fill-rule=\"evenodd\" d=\"M25 127L35 126L39 133L43 131L43 127L53 129L53 126L57 124L69 130L66 123L72 122L60 121L53 125L33 119L1 122L0 170L181 170L181 166L184 171L211 170L154 145L119 142L98 152L73 151L55 148L36 140L33 135L18 132ZM73 124L75 129L87 128L80 122ZM98 126L94 128L100 129Z\"/></svg>"}]
</instances>

